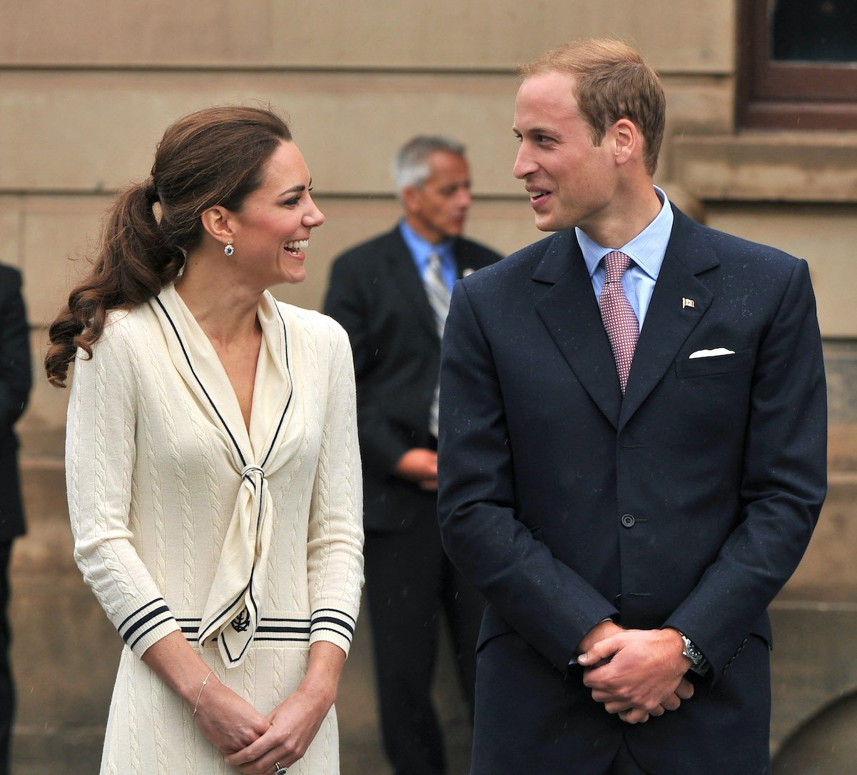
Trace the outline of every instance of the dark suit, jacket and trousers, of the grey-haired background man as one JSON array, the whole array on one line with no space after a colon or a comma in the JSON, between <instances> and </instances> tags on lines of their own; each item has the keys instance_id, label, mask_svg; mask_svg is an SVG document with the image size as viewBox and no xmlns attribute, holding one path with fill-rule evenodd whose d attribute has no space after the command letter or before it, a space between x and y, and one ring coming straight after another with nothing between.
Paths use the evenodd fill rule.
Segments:
<instances>
[{"instance_id":1,"label":"dark suit, jacket and trousers, of the grey-haired background man","mask_svg":"<svg viewBox=\"0 0 857 775\"><path fill-rule=\"evenodd\" d=\"M455 239L453 251L458 277L500 258L468 239ZM405 452L436 449L428 425L440 371L434 313L399 227L339 257L325 312L345 327L354 351L365 596L385 748L395 772L445 772L431 699L437 626L444 615L472 711L484 601L443 553L437 493L394 473Z\"/></svg>"}]
</instances>

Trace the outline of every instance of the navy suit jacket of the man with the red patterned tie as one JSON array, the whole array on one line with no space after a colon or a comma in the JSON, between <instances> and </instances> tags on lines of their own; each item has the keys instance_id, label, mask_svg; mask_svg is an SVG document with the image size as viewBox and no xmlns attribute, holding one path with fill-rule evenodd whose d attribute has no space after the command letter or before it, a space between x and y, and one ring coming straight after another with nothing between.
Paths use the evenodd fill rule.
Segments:
<instances>
[{"instance_id":1,"label":"navy suit jacket of the man with the red patterned tie","mask_svg":"<svg viewBox=\"0 0 857 775\"><path fill-rule=\"evenodd\" d=\"M668 741L670 724L696 714L707 729L687 745L713 734L722 748L718 730L740 736L741 714L718 727L732 700L713 687L751 634L770 645L766 608L824 500L824 366L806 262L674 215L624 397L573 230L456 285L441 366L440 526L488 600L481 648L512 633L561 682L599 621L675 627L708 659L710 693L635 734L662 730ZM733 353L690 357L715 348ZM740 676L742 713L766 712L768 677L755 680ZM588 692L579 676L572 684ZM664 747L680 760L681 742ZM694 772L750 772L719 761Z\"/></svg>"}]
</instances>

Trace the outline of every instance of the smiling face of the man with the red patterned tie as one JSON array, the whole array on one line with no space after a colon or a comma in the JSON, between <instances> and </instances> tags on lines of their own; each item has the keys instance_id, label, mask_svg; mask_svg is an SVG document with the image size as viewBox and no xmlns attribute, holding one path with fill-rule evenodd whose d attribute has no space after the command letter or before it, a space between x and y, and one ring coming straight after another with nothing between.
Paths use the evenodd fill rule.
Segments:
<instances>
[{"instance_id":1,"label":"smiling face of the man with the red patterned tie","mask_svg":"<svg viewBox=\"0 0 857 775\"><path fill-rule=\"evenodd\" d=\"M574 99L574 76L548 72L527 78L518 89L512 130L520 141L513 173L530 192L536 228L578 226L596 239L616 192L613 133L592 144L590 125Z\"/></svg>"}]
</instances>

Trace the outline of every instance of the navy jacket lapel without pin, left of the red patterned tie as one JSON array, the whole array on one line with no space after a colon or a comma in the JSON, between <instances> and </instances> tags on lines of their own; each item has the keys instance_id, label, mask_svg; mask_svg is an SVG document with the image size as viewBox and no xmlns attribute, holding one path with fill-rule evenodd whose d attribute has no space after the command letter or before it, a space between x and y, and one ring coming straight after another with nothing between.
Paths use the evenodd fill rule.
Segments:
<instances>
[{"instance_id":1,"label":"navy jacket lapel without pin, left of the red patterned tie","mask_svg":"<svg viewBox=\"0 0 857 775\"><path fill-rule=\"evenodd\" d=\"M614 427L622 403L607 332L583 254L573 230L550 239L533 282L551 286L536 300L536 312L584 389Z\"/></svg>"}]
</instances>

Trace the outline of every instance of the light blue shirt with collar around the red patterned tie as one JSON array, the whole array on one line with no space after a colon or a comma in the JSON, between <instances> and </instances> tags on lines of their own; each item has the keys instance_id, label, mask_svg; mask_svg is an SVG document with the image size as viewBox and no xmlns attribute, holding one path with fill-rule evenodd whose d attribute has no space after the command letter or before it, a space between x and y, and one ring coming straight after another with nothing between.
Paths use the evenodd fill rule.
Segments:
<instances>
[{"instance_id":1,"label":"light blue shirt with collar around the red patterned tie","mask_svg":"<svg viewBox=\"0 0 857 775\"><path fill-rule=\"evenodd\" d=\"M632 261L631 266L622 275L622 288L634 314L637 315L641 329L645 313L649 309L651 294L655 290L657 275L661 271L664 253L667 252L669 235L673 231L673 209L669 206L667 195L657 186L655 192L661 200L661 212L634 239L619 248ZM578 245L583 251L586 269L589 269L592 289L597 299L601 295L606 273L602 258L614 251L614 248L598 245L578 227L574 227L574 231L578 235Z\"/></svg>"}]
</instances>

